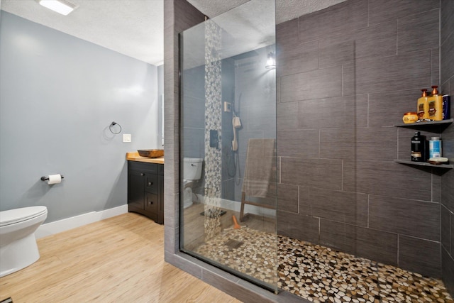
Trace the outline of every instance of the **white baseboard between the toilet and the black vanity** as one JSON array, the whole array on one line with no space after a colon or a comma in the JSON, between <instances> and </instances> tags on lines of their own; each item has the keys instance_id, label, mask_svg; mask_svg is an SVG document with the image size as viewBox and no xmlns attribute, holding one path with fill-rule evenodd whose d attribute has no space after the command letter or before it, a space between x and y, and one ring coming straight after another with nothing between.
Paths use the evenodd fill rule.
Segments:
<instances>
[{"instance_id":1,"label":"white baseboard between the toilet and the black vanity","mask_svg":"<svg viewBox=\"0 0 454 303\"><path fill-rule=\"evenodd\" d=\"M112 209L105 209L104 211L92 211L87 214L81 214L79 216L72 216L67 219L53 221L50 223L42 224L40 227L38 227L38 230L35 231L35 237L37 239L43 238L45 236L61 233L62 231L67 231L72 228L84 226L96 221L101 221L110 218L111 216L126 214L127 212L128 204L125 204L114 207Z\"/></svg>"}]
</instances>

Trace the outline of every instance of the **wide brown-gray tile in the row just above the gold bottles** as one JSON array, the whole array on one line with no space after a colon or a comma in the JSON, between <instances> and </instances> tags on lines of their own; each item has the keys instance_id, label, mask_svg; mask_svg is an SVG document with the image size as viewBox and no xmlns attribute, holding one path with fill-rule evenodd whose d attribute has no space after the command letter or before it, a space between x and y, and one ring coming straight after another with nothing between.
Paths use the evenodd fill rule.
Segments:
<instances>
[{"instance_id":1,"label":"wide brown-gray tile in the row just above the gold bottles","mask_svg":"<svg viewBox=\"0 0 454 303\"><path fill-rule=\"evenodd\" d=\"M431 50L358 59L343 65L344 96L431 86Z\"/></svg>"}]
</instances>

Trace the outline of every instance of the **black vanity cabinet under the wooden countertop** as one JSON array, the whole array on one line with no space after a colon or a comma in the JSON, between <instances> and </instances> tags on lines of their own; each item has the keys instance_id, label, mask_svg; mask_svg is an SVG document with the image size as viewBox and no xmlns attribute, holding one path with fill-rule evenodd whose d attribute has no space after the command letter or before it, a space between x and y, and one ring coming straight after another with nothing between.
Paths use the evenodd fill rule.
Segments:
<instances>
[{"instance_id":1,"label":"black vanity cabinet under the wooden countertop","mask_svg":"<svg viewBox=\"0 0 454 303\"><path fill-rule=\"evenodd\" d=\"M128 211L164 224L164 165L128 161Z\"/></svg>"}]
</instances>

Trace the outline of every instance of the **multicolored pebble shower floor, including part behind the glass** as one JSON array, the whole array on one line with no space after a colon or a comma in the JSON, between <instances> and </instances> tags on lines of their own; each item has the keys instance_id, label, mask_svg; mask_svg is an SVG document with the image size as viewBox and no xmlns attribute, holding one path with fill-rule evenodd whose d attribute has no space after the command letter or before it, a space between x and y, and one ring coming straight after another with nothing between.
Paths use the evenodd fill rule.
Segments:
<instances>
[{"instance_id":1,"label":"multicolored pebble shower floor, including part behind the glass","mask_svg":"<svg viewBox=\"0 0 454 303\"><path fill-rule=\"evenodd\" d=\"M284 236L277 241L277 286L309 301L454 302L441 280ZM275 285L275 250L275 235L240 228L224 230L196 253Z\"/></svg>"}]
</instances>

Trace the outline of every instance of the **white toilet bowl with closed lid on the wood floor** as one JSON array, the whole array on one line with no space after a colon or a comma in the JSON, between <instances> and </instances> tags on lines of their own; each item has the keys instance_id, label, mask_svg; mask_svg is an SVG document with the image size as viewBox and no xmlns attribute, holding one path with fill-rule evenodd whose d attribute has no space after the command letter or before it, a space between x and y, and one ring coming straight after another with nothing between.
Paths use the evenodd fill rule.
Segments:
<instances>
[{"instance_id":1,"label":"white toilet bowl with closed lid on the wood floor","mask_svg":"<svg viewBox=\"0 0 454 303\"><path fill-rule=\"evenodd\" d=\"M46 206L0 211L0 277L38 261L35 231L47 217Z\"/></svg>"}]
</instances>

